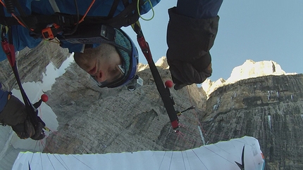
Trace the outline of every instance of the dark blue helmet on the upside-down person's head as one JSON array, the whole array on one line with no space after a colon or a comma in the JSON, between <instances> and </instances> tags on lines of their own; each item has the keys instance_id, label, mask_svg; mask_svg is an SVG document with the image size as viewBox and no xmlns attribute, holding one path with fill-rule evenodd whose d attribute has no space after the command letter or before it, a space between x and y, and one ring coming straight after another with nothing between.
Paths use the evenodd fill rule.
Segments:
<instances>
[{"instance_id":1,"label":"dark blue helmet on the upside-down person's head","mask_svg":"<svg viewBox=\"0 0 303 170\"><path fill-rule=\"evenodd\" d=\"M89 30L89 31L88 31ZM130 81L138 79L136 76L137 64L139 63L138 51L128 34L123 30L110 27L108 25L80 25L77 32L64 39L72 44L85 44L85 46L96 46L107 43L116 47L122 64L118 65L120 71L117 78L112 81L99 82L93 76L92 79L99 87L118 87L127 85Z\"/></svg>"}]
</instances>

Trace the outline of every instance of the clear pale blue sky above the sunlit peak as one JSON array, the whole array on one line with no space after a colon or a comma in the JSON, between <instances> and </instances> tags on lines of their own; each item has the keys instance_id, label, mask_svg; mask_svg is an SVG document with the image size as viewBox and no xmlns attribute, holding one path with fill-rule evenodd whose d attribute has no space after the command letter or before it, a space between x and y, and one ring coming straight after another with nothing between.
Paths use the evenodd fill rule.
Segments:
<instances>
[{"instance_id":1,"label":"clear pale blue sky above the sunlit peak","mask_svg":"<svg viewBox=\"0 0 303 170\"><path fill-rule=\"evenodd\" d=\"M176 4L176 0L160 1L154 7L155 16L152 20L140 19L155 62L166 55L167 10ZM242 65L247 59L273 60L285 72L303 72L302 0L223 1L218 15L218 35L211 48L212 81L228 79L233 68ZM144 18L151 16L152 11L142 15ZM130 27L123 30L137 43ZM144 55L141 52L139 54L140 63L147 64Z\"/></svg>"}]
</instances>

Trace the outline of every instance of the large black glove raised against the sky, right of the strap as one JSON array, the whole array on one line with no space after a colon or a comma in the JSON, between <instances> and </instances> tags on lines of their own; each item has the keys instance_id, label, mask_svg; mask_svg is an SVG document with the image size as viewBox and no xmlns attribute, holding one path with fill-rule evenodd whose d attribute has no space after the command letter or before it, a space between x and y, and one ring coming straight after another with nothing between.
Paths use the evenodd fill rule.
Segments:
<instances>
[{"instance_id":1,"label":"large black glove raised against the sky, right of the strap","mask_svg":"<svg viewBox=\"0 0 303 170\"><path fill-rule=\"evenodd\" d=\"M218 19L194 19L168 10L166 57L175 89L200 84L211 76L210 48L218 31Z\"/></svg>"}]
</instances>

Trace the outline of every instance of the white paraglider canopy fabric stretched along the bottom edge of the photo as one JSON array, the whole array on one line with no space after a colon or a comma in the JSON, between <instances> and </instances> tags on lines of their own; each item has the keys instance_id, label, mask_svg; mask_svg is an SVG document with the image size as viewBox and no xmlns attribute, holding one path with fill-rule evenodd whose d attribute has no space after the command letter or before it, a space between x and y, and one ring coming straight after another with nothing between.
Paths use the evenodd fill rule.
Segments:
<instances>
[{"instance_id":1,"label":"white paraglider canopy fabric stretched along the bottom edge of the photo","mask_svg":"<svg viewBox=\"0 0 303 170\"><path fill-rule=\"evenodd\" d=\"M242 160L242 153L243 160ZM20 152L13 170L35 169L156 169L156 170L264 169L258 140L245 136L185 151L139 151L92 155L58 155ZM238 164L237 164L237 163Z\"/></svg>"}]
</instances>

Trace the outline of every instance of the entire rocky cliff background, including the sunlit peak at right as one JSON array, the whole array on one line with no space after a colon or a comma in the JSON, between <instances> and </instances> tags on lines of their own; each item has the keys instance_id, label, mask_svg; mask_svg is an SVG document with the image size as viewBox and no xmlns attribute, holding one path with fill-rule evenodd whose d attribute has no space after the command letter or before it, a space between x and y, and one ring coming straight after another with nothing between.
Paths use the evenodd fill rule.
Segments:
<instances>
[{"instance_id":1,"label":"entire rocky cliff background, including the sunlit peak at right","mask_svg":"<svg viewBox=\"0 0 303 170\"><path fill-rule=\"evenodd\" d=\"M61 53L66 51L59 51L58 55ZM41 80L49 61L25 56L20 60L23 58L19 63L24 66L19 69L27 73L35 71L34 74L21 73L22 79ZM7 89L12 88L14 79L10 68L3 67L7 63L0 64L0 80L6 80ZM157 64L161 65L159 72L163 81L171 79L165 58ZM254 65L252 70L245 69L247 64ZM46 92L47 104L58 116L59 127L47 138L44 152L186 150L220 140L253 136L264 152L266 169L303 169L302 74L286 75L273 61L248 60L245 67L237 67L226 81L206 80L202 88L192 85L180 91L171 89L176 110L196 107L183 113L181 133L174 133L149 67L140 65L139 69L144 86L128 91L124 87L100 89L75 63L70 65ZM241 73L236 74L239 70Z\"/></svg>"}]
</instances>

